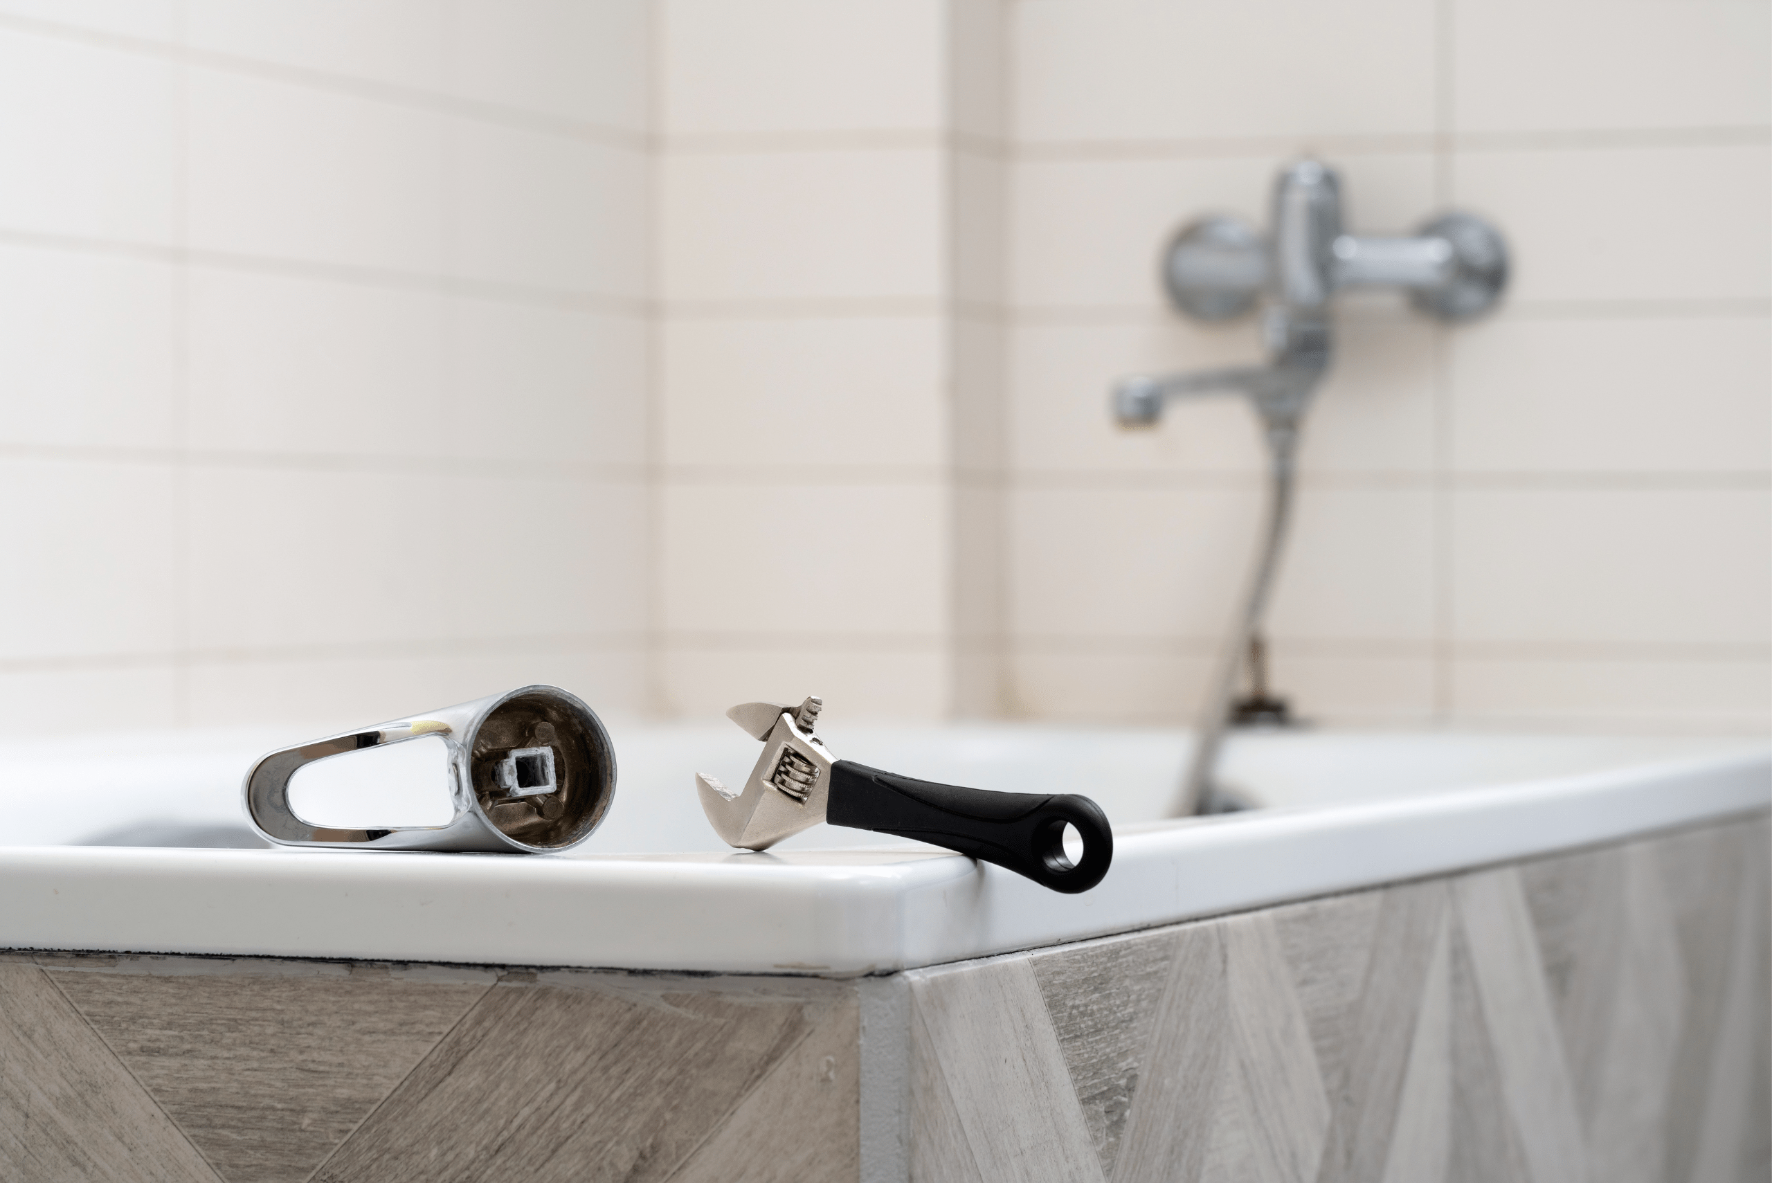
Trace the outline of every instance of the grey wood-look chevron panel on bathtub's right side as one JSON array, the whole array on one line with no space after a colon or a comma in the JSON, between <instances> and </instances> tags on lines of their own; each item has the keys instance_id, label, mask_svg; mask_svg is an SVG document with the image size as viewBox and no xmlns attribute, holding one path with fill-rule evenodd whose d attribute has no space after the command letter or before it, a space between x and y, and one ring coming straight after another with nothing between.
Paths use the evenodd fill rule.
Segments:
<instances>
[{"instance_id":1,"label":"grey wood-look chevron panel on bathtub's right side","mask_svg":"<svg viewBox=\"0 0 1772 1183\"><path fill-rule=\"evenodd\" d=\"M1765 820L913 970L913 1183L1767 1183Z\"/></svg>"}]
</instances>

